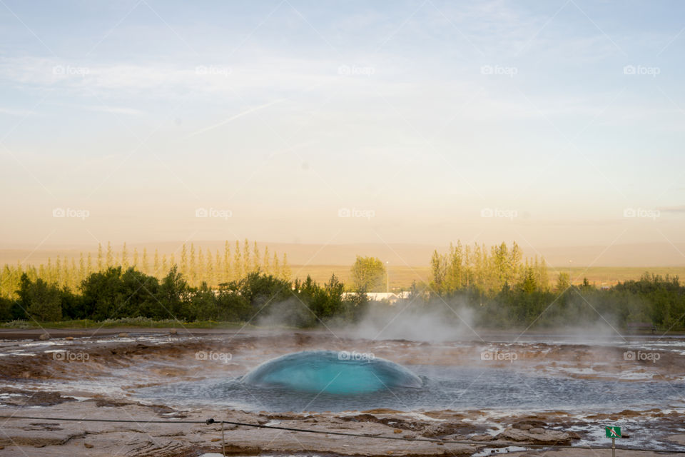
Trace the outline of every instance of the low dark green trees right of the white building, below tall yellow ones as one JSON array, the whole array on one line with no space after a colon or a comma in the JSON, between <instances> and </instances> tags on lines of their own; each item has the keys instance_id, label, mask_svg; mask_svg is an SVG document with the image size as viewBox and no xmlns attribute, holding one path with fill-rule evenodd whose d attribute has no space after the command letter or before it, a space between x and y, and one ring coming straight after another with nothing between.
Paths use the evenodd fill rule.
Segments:
<instances>
[{"instance_id":1,"label":"low dark green trees right of the white building, below tall yellow ones","mask_svg":"<svg viewBox=\"0 0 685 457\"><path fill-rule=\"evenodd\" d=\"M453 320L453 310L466 309L472 317L470 325L480 328L593 328L595 324L614 329L633 324L647 330L685 328L685 286L677 277L649 273L608 289L598 289L587 279L581 284L558 281L556 286L538 288L527 276L512 286L505 283L497 293L468 286L450 293L427 288L416 294L412 305L426 311L447 309L446 318Z\"/></svg>"}]
</instances>

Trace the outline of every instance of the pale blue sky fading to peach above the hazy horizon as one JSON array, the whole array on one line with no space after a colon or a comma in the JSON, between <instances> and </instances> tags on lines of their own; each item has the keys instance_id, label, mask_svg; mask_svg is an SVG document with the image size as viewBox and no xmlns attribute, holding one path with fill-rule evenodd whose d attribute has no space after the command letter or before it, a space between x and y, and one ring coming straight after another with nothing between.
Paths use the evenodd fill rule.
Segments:
<instances>
[{"instance_id":1,"label":"pale blue sky fading to peach above the hazy horizon","mask_svg":"<svg viewBox=\"0 0 685 457\"><path fill-rule=\"evenodd\" d=\"M684 13L0 0L0 245L683 243Z\"/></svg>"}]
</instances>

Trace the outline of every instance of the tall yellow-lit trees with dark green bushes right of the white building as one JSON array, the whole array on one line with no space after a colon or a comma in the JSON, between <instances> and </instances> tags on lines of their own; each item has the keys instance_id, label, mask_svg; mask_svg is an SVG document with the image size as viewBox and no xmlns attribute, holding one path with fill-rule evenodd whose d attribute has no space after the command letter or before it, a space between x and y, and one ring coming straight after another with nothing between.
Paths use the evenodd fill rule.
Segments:
<instances>
[{"instance_id":1,"label":"tall yellow-lit trees with dark green bushes right of the white building","mask_svg":"<svg viewBox=\"0 0 685 457\"><path fill-rule=\"evenodd\" d=\"M517 243L507 246L450 245L431 258L430 283L414 285L419 302L455 303L472 311L484 327L570 326L631 323L662 329L685 328L685 286L677 276L644 273L637 281L598 289L569 273L549 278L544 259L525 258ZM442 305L441 305L442 303Z\"/></svg>"}]
</instances>

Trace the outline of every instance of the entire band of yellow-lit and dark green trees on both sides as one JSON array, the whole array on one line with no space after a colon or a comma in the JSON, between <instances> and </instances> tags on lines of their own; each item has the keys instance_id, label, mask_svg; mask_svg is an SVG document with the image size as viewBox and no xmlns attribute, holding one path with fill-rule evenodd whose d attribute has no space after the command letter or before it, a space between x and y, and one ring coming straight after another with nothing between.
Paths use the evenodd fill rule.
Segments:
<instances>
[{"instance_id":1,"label":"entire band of yellow-lit and dark green trees on both sides","mask_svg":"<svg viewBox=\"0 0 685 457\"><path fill-rule=\"evenodd\" d=\"M365 293L382 289L387 278L378 258L357 256L347 286L352 293L345 293L345 284L335 275L326 283L317 283L310 276L291 280L285 261L278 268L270 263L266 270L264 261L255 261L264 258L256 255L256 245L249 257L245 246L249 248L248 241L240 250L240 262L235 262L234 253L232 263L219 263L239 267L230 272L224 269L218 276L198 269L200 256L193 255L192 245L189 255L188 250L181 251L181 265L185 266L173 263L164 276L141 271L143 262L126 268L107 266L106 256L102 270L73 286L37 274L40 269L26 268L15 286L6 285L9 296L0 297L0 321L142 317L310 327L327 321L358 321L369 306L387 306L370 304ZM251 260L245 262L246 258ZM637 281L604 290L587 279L574 285L569 274L562 272L552 283L544 260L524 259L516 243L485 248L457 242L447 253L433 253L431 266L430 281L412 284L409 298L397 303L398 312L407 306L419 312L440 309L446 319L455 320L455 309L467 309L472 325L491 328L597 322L617 327L642 323L662 329L685 328L685 286L677 276L645 273ZM203 281L207 277L229 280L213 285ZM6 276L2 279L6 281Z\"/></svg>"}]
</instances>

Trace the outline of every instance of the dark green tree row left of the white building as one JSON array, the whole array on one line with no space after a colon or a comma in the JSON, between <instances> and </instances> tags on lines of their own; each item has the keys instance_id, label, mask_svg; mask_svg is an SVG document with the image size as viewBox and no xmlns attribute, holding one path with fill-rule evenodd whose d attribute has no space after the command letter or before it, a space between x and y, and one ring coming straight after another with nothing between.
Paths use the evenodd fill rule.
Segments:
<instances>
[{"instance_id":1,"label":"dark green tree row left of the white building","mask_svg":"<svg viewBox=\"0 0 685 457\"><path fill-rule=\"evenodd\" d=\"M22 274L16 298L0 298L0 321L61 321L118 318L251 322L310 327L323 320L355 321L367 306L365 294L344 294L335 275L324 284L309 276L289 281L251 271L238 280L211 288L193 287L172 266L161 279L121 266L91 273L78 288L35 280ZM255 322L256 323L256 322Z\"/></svg>"}]
</instances>

